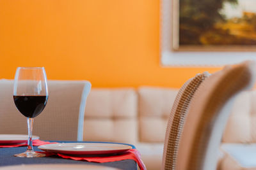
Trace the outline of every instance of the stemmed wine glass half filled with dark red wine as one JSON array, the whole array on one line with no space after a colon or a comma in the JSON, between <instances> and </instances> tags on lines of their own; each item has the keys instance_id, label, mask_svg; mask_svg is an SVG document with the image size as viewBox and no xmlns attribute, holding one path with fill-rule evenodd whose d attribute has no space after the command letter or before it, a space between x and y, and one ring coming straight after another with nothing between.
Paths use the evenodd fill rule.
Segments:
<instances>
[{"instance_id":1,"label":"stemmed wine glass half filled with dark red wine","mask_svg":"<svg viewBox=\"0 0 256 170\"><path fill-rule=\"evenodd\" d=\"M45 108L48 100L47 78L44 67L18 67L13 86L13 100L16 108L28 118L28 148L15 157L44 157L44 153L33 150L33 118Z\"/></svg>"}]
</instances>

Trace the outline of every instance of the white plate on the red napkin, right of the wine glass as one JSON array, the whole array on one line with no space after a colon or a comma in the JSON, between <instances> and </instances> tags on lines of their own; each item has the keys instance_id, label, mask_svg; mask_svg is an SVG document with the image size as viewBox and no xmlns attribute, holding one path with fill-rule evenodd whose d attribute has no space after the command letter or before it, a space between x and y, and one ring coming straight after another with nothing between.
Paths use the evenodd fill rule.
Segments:
<instances>
[{"instance_id":1,"label":"white plate on the red napkin, right of the wine glass","mask_svg":"<svg viewBox=\"0 0 256 170\"><path fill-rule=\"evenodd\" d=\"M117 143L55 143L41 145L40 150L68 155L105 155L125 152L132 146Z\"/></svg>"}]
</instances>

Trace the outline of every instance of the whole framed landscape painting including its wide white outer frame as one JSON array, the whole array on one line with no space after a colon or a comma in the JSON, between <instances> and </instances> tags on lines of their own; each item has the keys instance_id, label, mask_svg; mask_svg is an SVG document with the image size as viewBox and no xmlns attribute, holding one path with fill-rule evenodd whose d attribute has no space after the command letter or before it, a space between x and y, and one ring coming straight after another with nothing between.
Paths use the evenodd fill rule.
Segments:
<instances>
[{"instance_id":1,"label":"whole framed landscape painting including its wide white outer frame","mask_svg":"<svg viewBox=\"0 0 256 170\"><path fill-rule=\"evenodd\" d=\"M180 17L182 17L179 14L182 1L190 2L186 4L187 7L184 5L182 7L188 11L201 10L201 8L207 8L210 11L209 6L216 6L215 8L220 9L218 10L218 17L213 24L204 25L202 22L205 28L199 28L200 31L197 31L198 34L193 38L191 32L195 31L192 30L195 23L188 24L185 20L187 25L179 24ZM202 3L200 9L191 9L191 4L197 3L197 1ZM221 3L219 4L218 1ZM222 7L220 8L220 6ZM161 66L219 67L226 64L236 64L244 60L256 60L255 29L253 28L256 22L251 22L255 16L256 0L161 0L160 11ZM193 18L192 15L187 15L189 22L194 20L196 16L202 17L203 11L201 10ZM211 11L213 12L213 10ZM189 39L189 35L179 36L181 33L179 33L180 26L182 26L183 31L186 30L188 34L192 34ZM196 27L198 25L195 25L195 29ZM220 29L224 31L220 32Z\"/></svg>"}]
</instances>

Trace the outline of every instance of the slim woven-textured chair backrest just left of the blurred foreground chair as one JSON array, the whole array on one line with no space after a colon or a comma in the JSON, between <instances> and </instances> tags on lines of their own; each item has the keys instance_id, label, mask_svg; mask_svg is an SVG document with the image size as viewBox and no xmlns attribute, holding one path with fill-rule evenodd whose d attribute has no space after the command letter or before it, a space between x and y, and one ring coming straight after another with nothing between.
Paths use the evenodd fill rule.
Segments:
<instances>
[{"instance_id":1,"label":"slim woven-textured chair backrest just left of the blurred foreground chair","mask_svg":"<svg viewBox=\"0 0 256 170\"><path fill-rule=\"evenodd\" d=\"M208 76L209 73L205 72L189 79L180 88L175 98L166 128L162 169L175 169L180 135L188 113L189 104L196 89Z\"/></svg>"}]
</instances>

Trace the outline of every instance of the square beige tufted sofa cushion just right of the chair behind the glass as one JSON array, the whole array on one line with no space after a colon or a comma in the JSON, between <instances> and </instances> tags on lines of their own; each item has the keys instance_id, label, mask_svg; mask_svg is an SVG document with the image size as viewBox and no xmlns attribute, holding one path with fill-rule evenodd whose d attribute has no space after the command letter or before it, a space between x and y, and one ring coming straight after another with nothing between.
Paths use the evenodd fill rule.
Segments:
<instances>
[{"instance_id":1,"label":"square beige tufted sofa cushion just right of the chair behind the glass","mask_svg":"<svg viewBox=\"0 0 256 170\"><path fill-rule=\"evenodd\" d=\"M134 89L93 89L84 115L84 140L136 143L137 103Z\"/></svg>"}]
</instances>

